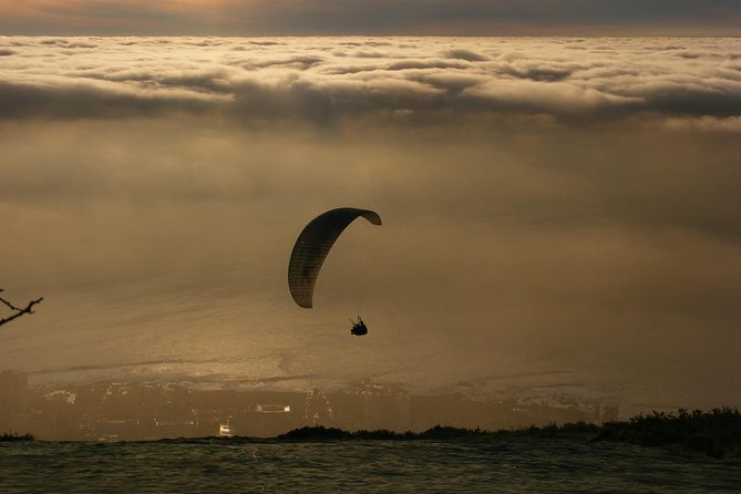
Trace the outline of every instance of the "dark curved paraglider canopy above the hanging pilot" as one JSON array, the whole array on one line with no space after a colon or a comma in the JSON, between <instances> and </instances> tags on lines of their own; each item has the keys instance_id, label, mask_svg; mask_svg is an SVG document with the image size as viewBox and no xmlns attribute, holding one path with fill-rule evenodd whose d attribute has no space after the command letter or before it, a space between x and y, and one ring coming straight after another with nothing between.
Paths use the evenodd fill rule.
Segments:
<instances>
[{"instance_id":1,"label":"dark curved paraglider canopy above the hanging pilot","mask_svg":"<svg viewBox=\"0 0 741 494\"><path fill-rule=\"evenodd\" d=\"M313 218L299 235L288 265L288 288L300 307L311 308L313 286L327 254L344 228L360 216L373 225L381 225L381 217L375 212L340 207Z\"/></svg>"}]
</instances>

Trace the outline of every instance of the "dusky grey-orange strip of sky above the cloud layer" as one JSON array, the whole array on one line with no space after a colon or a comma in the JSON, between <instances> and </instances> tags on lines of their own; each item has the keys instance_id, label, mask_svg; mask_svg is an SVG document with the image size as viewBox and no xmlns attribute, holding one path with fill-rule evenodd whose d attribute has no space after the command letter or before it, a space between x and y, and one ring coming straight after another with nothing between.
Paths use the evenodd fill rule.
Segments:
<instances>
[{"instance_id":1,"label":"dusky grey-orange strip of sky above the cloud layer","mask_svg":"<svg viewBox=\"0 0 741 494\"><path fill-rule=\"evenodd\" d=\"M0 0L30 35L739 35L738 0Z\"/></svg>"}]
</instances>

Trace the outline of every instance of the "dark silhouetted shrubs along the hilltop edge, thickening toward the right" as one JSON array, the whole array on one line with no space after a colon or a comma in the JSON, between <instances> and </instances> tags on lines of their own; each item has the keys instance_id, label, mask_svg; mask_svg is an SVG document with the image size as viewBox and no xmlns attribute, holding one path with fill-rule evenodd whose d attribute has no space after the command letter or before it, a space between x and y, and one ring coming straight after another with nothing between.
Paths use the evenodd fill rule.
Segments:
<instances>
[{"instance_id":1,"label":"dark silhouetted shrubs along the hilltop edge, thickening toward the right","mask_svg":"<svg viewBox=\"0 0 741 494\"><path fill-rule=\"evenodd\" d=\"M709 412L680 409L677 414L653 412L627 421L601 425L586 422L564 425L531 426L502 431L434 426L424 432L356 431L306 426L281 434L282 441L318 440L466 440L506 439L515 436L543 439L578 439L585 441L621 441L641 446L661 446L679 453L701 453L719 459L741 459L741 414L735 409L720 408Z\"/></svg>"}]
</instances>

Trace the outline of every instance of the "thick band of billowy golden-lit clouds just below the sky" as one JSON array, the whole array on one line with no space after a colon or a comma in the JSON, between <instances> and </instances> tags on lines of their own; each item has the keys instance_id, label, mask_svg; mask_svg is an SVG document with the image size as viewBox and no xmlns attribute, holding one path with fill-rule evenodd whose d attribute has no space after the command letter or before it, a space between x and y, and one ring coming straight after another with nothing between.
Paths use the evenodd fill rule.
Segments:
<instances>
[{"instance_id":1,"label":"thick band of billowy golden-lit clouds just below the sky","mask_svg":"<svg viewBox=\"0 0 741 494\"><path fill-rule=\"evenodd\" d=\"M0 38L0 53L3 119L741 114L737 39Z\"/></svg>"}]
</instances>

